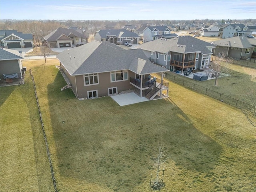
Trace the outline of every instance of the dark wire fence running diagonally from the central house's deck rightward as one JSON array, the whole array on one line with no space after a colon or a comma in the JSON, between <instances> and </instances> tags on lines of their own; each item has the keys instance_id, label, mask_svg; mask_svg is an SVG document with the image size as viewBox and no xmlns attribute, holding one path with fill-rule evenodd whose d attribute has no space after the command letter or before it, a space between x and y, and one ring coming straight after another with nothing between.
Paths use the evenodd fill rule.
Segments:
<instances>
[{"instance_id":1,"label":"dark wire fence running diagonally from the central house's deck rightward","mask_svg":"<svg viewBox=\"0 0 256 192\"><path fill-rule=\"evenodd\" d=\"M192 90L196 90L202 94L205 94L205 95L208 95L212 98L215 98L217 100L220 100L221 102L224 102L226 104L229 104L229 105L232 105L236 108L250 108L252 107L250 104L246 103L246 102L243 102L243 101L240 101L240 100L237 100L237 99L234 99L230 96L226 96L222 93L218 93L214 90L211 90L209 88L205 88L203 86L200 86L198 84L194 84L190 81L187 81L187 80L184 80L183 78L180 78L178 76L175 76L175 75L172 75L171 72L168 72L168 73L165 73L165 77L168 79L168 80L171 80L172 82L175 82L175 83L178 83L184 87L188 87Z\"/></svg>"}]
</instances>

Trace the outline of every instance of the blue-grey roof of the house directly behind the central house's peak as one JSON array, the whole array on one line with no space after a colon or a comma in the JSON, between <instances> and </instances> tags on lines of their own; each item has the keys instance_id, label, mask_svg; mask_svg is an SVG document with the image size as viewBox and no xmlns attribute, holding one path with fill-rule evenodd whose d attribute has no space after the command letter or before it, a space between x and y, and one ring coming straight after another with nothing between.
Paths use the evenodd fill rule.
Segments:
<instances>
[{"instance_id":1,"label":"blue-grey roof of the house directly behind the central house's peak","mask_svg":"<svg viewBox=\"0 0 256 192\"><path fill-rule=\"evenodd\" d=\"M106 38L106 36L116 36L116 37L139 37L138 34L131 32L126 29L102 29L98 31L101 38Z\"/></svg>"}]
</instances>

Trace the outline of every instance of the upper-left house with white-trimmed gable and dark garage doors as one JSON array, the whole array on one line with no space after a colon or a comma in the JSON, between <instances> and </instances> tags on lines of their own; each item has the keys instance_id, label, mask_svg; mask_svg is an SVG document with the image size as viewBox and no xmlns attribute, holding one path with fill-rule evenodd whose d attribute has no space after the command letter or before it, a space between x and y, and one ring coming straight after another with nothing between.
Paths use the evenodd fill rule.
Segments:
<instances>
[{"instance_id":1,"label":"upper-left house with white-trimmed gable and dark garage doors","mask_svg":"<svg viewBox=\"0 0 256 192\"><path fill-rule=\"evenodd\" d=\"M17 30L0 30L1 47L12 48L27 48L33 47L32 34L23 34Z\"/></svg>"}]
</instances>

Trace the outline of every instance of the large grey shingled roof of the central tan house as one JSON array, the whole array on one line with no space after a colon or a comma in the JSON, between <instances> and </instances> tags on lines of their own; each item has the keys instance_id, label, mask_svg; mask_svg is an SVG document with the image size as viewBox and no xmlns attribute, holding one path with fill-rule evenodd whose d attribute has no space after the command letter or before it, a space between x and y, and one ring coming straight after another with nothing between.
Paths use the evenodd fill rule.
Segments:
<instances>
[{"instance_id":1,"label":"large grey shingled roof of the central tan house","mask_svg":"<svg viewBox=\"0 0 256 192\"><path fill-rule=\"evenodd\" d=\"M126 69L137 74L168 71L152 64L142 50L124 50L110 42L93 41L65 50L57 58L72 76Z\"/></svg>"}]
</instances>

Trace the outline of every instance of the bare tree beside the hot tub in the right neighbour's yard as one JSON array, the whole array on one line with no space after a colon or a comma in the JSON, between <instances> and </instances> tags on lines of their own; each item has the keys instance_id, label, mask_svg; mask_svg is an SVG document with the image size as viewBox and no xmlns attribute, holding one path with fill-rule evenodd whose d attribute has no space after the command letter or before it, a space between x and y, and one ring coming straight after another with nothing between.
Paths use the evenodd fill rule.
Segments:
<instances>
[{"instance_id":1,"label":"bare tree beside the hot tub in the right neighbour's yard","mask_svg":"<svg viewBox=\"0 0 256 192\"><path fill-rule=\"evenodd\" d=\"M224 74L230 74L228 64L232 63L232 58L226 58L226 53L222 52L216 56L216 60L212 61L209 68L213 70L214 85L218 85L218 79Z\"/></svg>"}]
</instances>

